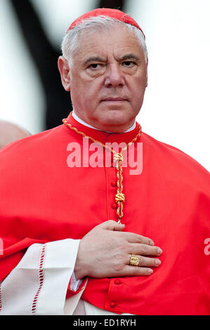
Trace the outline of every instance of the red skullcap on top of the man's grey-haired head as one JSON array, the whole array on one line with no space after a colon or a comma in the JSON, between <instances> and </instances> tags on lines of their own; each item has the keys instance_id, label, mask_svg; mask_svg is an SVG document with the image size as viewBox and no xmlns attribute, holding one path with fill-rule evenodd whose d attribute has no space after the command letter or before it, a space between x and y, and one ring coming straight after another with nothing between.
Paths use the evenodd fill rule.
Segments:
<instances>
[{"instance_id":1,"label":"red skullcap on top of the man's grey-haired head","mask_svg":"<svg viewBox=\"0 0 210 330\"><path fill-rule=\"evenodd\" d=\"M125 14L123 11L119 11L118 9L110 9L110 8L98 8L98 9L94 9L93 11L88 11L88 13L85 13L84 15L81 15L79 18L77 18L77 20L74 20L74 22L72 22L72 25L70 25L70 27L67 29L67 32L69 32L70 29L72 29L76 25L81 24L81 22L83 22L84 20L87 20L88 18L92 18L92 17L97 17L100 15L108 16L110 18L115 18L117 20L120 20L121 22L131 24L134 27L140 29L140 26L137 24L137 22L133 20L133 18L131 18L129 15ZM143 33L142 29L140 29L140 31ZM145 37L144 33L143 35Z\"/></svg>"}]
</instances>

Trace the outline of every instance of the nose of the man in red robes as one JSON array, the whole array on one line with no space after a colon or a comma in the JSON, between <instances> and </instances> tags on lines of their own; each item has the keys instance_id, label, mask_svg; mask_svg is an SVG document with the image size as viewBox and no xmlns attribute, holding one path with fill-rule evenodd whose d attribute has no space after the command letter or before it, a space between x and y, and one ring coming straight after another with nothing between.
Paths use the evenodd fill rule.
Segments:
<instances>
[{"instance_id":1,"label":"nose of the man in red robes","mask_svg":"<svg viewBox=\"0 0 210 330\"><path fill-rule=\"evenodd\" d=\"M107 66L105 76L105 86L110 87L122 87L124 86L124 74L118 63L112 63Z\"/></svg>"}]
</instances>

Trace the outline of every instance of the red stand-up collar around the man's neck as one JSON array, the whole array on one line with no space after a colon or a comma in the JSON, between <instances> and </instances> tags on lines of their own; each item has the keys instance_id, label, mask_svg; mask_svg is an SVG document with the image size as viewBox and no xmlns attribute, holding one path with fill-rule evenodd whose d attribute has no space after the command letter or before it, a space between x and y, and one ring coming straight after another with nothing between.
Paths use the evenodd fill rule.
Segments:
<instances>
[{"instance_id":1,"label":"red stand-up collar around the man's neck","mask_svg":"<svg viewBox=\"0 0 210 330\"><path fill-rule=\"evenodd\" d=\"M87 126L86 123L81 124L81 122L77 121L74 119L72 116L72 112L70 112L69 116L67 117L67 122L70 123L72 126L78 129L78 131L83 132L86 134L86 136L91 136L91 138L100 141L101 143L107 143L107 142L116 142L116 143L129 143L135 136L138 134L139 126L138 123L136 122L135 128L131 131L126 131L124 133L109 133L105 131L100 131L96 128L89 127ZM65 124L63 124L63 128L68 132L72 134L71 128L67 127ZM76 132L73 132L74 134L77 135Z\"/></svg>"}]
</instances>

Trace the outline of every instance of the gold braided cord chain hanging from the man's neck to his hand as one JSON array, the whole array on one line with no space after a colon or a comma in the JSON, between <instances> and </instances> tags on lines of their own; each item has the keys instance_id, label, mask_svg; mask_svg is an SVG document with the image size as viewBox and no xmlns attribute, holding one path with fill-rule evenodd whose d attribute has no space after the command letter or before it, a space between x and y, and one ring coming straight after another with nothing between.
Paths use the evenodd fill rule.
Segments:
<instances>
[{"instance_id":1,"label":"gold braided cord chain hanging from the man's neck to his hand","mask_svg":"<svg viewBox=\"0 0 210 330\"><path fill-rule=\"evenodd\" d=\"M76 127L72 126L70 123L68 123L67 119L63 119L63 124L68 126L72 129L72 131L76 132L77 134L83 136L84 138L88 138L88 140L93 141L94 143L98 143L98 145L101 145L105 149L109 150L113 154L113 161L116 162L116 170L117 170L117 194L115 194L115 202L117 203L117 216L119 217L118 223L121 223L122 217L123 217L123 203L125 202L125 194L123 193L123 175L122 175L122 161L123 156L122 152L127 150L127 148L140 137L141 134L141 126L138 124L138 134L133 138L131 142L129 142L126 147L122 148L121 152L117 153L115 152L111 147L108 145L105 145L101 143L98 140L95 140L91 138L91 136L86 136L85 133L80 132Z\"/></svg>"}]
</instances>

